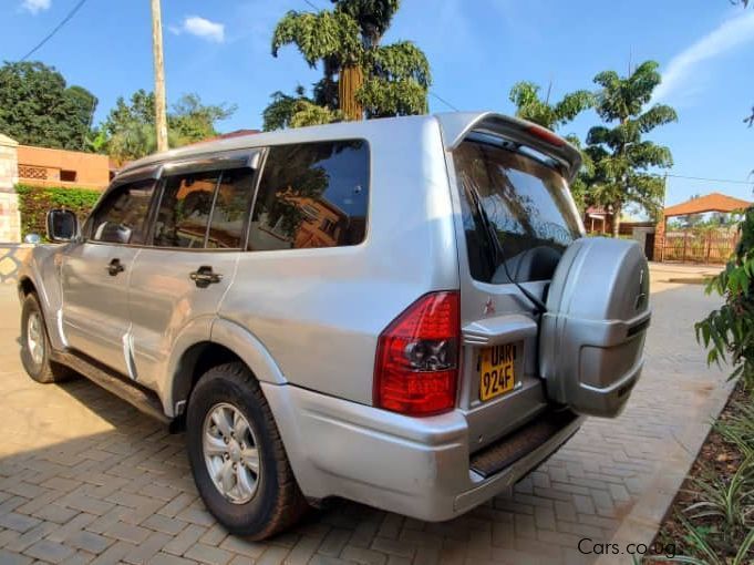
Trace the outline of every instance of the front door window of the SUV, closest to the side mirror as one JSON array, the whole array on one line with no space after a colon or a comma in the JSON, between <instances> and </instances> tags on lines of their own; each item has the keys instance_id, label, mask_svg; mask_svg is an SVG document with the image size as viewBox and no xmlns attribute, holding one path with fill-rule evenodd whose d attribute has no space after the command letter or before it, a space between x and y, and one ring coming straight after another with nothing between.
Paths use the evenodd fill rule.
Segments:
<instances>
[{"instance_id":1,"label":"front door window of the SUV, closest to the side mirror","mask_svg":"<svg viewBox=\"0 0 754 565\"><path fill-rule=\"evenodd\" d=\"M114 188L92 214L91 238L113 244L144 243L155 184L146 179Z\"/></svg>"}]
</instances>

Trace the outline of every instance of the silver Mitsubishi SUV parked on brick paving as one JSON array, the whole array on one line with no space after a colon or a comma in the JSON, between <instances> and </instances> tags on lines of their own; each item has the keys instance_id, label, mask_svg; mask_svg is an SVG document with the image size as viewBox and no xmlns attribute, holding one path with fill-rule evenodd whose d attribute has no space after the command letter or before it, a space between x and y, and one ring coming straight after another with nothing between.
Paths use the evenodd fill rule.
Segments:
<instances>
[{"instance_id":1,"label":"silver Mitsubishi SUV parked on brick paving","mask_svg":"<svg viewBox=\"0 0 754 565\"><path fill-rule=\"evenodd\" d=\"M19 279L22 360L186 430L264 538L341 496L422 520L614 417L643 363L638 245L585 238L579 152L493 113L341 123L128 165Z\"/></svg>"}]
</instances>

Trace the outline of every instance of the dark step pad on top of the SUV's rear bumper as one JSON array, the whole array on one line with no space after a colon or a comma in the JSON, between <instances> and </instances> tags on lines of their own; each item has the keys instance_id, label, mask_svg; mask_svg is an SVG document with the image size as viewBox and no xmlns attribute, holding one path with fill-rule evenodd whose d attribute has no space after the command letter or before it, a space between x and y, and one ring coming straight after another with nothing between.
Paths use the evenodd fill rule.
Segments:
<instances>
[{"instance_id":1,"label":"dark step pad on top of the SUV's rear bumper","mask_svg":"<svg viewBox=\"0 0 754 565\"><path fill-rule=\"evenodd\" d=\"M568 410L537 417L533 422L474 453L469 466L485 479L499 473L539 448L577 418Z\"/></svg>"}]
</instances>

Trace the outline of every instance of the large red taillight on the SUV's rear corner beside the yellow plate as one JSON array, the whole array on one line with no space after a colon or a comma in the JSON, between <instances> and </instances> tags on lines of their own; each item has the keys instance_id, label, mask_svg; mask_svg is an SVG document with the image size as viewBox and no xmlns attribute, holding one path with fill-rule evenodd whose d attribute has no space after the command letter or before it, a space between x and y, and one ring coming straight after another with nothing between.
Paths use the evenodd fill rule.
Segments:
<instances>
[{"instance_id":1,"label":"large red taillight on the SUV's rear corner beside the yellow plate","mask_svg":"<svg viewBox=\"0 0 754 565\"><path fill-rule=\"evenodd\" d=\"M455 405L461 318L458 292L431 292L380 335L374 405L431 415Z\"/></svg>"}]
</instances>

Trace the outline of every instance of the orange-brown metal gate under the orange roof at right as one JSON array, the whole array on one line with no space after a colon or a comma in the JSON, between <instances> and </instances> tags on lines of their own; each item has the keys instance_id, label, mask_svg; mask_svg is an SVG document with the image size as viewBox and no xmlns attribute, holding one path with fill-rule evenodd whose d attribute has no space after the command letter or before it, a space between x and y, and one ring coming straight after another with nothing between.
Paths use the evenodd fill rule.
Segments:
<instances>
[{"instance_id":1,"label":"orange-brown metal gate under the orange roof at right","mask_svg":"<svg viewBox=\"0 0 754 565\"><path fill-rule=\"evenodd\" d=\"M662 260L703 264L726 263L737 243L737 229L674 229L665 233Z\"/></svg>"}]
</instances>

